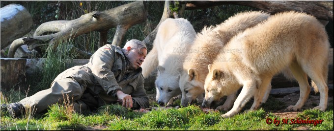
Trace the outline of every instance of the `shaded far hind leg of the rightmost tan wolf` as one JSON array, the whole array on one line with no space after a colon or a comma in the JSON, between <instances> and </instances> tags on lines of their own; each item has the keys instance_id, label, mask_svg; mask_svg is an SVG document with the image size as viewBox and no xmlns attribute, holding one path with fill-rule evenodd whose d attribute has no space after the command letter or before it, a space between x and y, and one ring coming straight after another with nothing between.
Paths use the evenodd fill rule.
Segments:
<instances>
[{"instance_id":1,"label":"shaded far hind leg of the rightmost tan wolf","mask_svg":"<svg viewBox=\"0 0 334 131\"><path fill-rule=\"evenodd\" d=\"M311 87L309 86L308 82L307 82L307 75L306 73L303 71L303 69L301 68L301 66L299 66L299 64L297 62L292 63L289 66L291 73L293 74L293 76L295 77L295 79L297 80L299 87L300 87L300 95L299 95L299 100L296 103L296 105L290 105L287 107L288 110L300 110L302 109L302 107L304 106L308 95L311 91Z\"/></svg>"}]
</instances>

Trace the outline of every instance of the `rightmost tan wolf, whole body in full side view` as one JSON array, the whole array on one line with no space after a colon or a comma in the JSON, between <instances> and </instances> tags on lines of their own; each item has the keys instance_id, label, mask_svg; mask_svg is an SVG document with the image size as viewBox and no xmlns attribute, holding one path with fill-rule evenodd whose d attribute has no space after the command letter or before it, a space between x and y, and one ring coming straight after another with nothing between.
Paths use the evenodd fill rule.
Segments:
<instances>
[{"instance_id":1,"label":"rightmost tan wolf, whole body in full side view","mask_svg":"<svg viewBox=\"0 0 334 131\"><path fill-rule=\"evenodd\" d=\"M297 104L287 109L298 110L304 105L310 92L308 75L315 83L314 88L320 91L320 104L314 109L325 110L329 48L325 28L313 16L293 11L278 13L234 36L225 45L224 49L241 49L241 52L221 52L218 57L234 62L215 60L208 66L202 106L209 106L243 86L233 108L222 116L235 115L252 96L251 110L257 109L273 75L289 67L301 93Z\"/></svg>"}]
</instances>

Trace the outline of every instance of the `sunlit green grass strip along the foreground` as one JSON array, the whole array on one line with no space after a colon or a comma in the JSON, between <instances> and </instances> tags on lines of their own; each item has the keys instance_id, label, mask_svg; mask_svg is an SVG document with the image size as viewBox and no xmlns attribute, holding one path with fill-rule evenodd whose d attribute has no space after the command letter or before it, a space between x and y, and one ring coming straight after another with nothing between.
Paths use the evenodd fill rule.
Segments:
<instances>
[{"instance_id":1,"label":"sunlit green grass strip along the foreground","mask_svg":"<svg viewBox=\"0 0 334 131\"><path fill-rule=\"evenodd\" d=\"M6 97L7 95L3 95ZM1 97L1 99L3 99ZM68 99L68 98L67 98ZM8 101L8 100L7 100ZM268 102L276 98L269 97ZM8 101L10 102L10 101ZM225 111L203 112L198 106L186 108L157 107L149 112L136 112L120 105L108 105L95 112L77 113L67 102L55 104L45 114L33 114L13 119L1 113L1 130L87 130L88 127L101 127L104 130L333 130L333 104L326 111L306 109L297 118L323 120L322 124L267 124L266 120L282 120L271 111L273 106L261 107L255 111L241 112L231 118L222 118ZM30 113L31 114L31 113ZM290 123L289 119L289 123Z\"/></svg>"}]
</instances>

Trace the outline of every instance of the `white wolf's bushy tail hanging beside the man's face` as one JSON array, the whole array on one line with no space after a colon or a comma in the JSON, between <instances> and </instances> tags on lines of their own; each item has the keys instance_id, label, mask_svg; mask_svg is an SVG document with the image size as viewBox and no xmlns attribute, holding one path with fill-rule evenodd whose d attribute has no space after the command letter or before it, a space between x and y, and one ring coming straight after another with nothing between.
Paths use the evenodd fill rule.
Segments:
<instances>
[{"instance_id":1,"label":"white wolf's bushy tail hanging beside the man's face","mask_svg":"<svg viewBox=\"0 0 334 131\"><path fill-rule=\"evenodd\" d=\"M153 46L152 50L147 54L144 62L141 65L142 76L144 78L150 76L150 74L152 74L152 71L154 71L158 67L158 64L158 50L155 46Z\"/></svg>"}]
</instances>

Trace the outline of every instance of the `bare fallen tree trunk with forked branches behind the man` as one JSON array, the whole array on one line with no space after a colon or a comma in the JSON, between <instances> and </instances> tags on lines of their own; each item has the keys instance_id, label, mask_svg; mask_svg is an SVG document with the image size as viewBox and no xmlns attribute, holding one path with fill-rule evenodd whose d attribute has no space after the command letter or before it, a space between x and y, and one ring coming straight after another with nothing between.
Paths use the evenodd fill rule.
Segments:
<instances>
[{"instance_id":1,"label":"bare fallen tree trunk with forked branches behind the man","mask_svg":"<svg viewBox=\"0 0 334 131\"><path fill-rule=\"evenodd\" d=\"M121 5L105 11L93 11L82 15L80 18L72 21L52 21L41 24L35 31L33 37L26 37L29 39L36 39L35 42L30 43L29 47L32 49L36 46L47 45L49 49L55 49L59 42L73 39L77 36L99 31L100 46L107 43L106 34L112 27L116 27L111 44L119 46L124 38L124 34L131 26L144 22L146 20L147 11L144 8L142 1L135 1L125 5ZM52 33L52 34L47 34ZM8 57L12 58L16 49L25 44L25 38L15 40L8 52Z\"/></svg>"}]
</instances>

